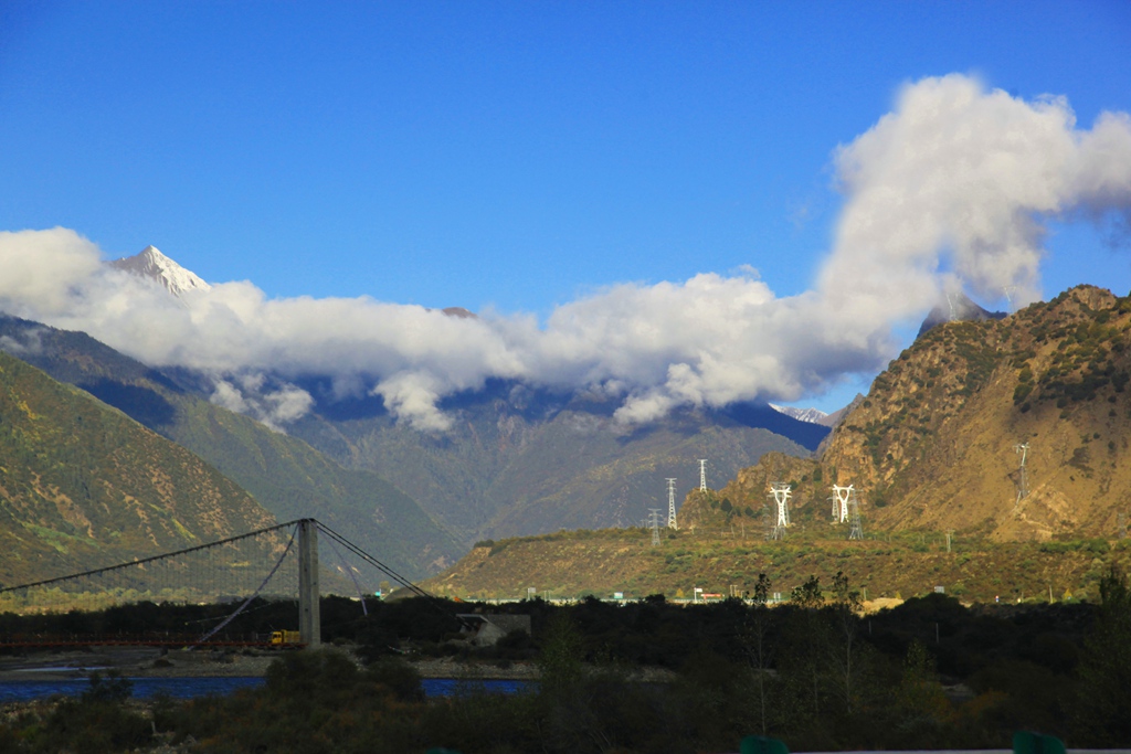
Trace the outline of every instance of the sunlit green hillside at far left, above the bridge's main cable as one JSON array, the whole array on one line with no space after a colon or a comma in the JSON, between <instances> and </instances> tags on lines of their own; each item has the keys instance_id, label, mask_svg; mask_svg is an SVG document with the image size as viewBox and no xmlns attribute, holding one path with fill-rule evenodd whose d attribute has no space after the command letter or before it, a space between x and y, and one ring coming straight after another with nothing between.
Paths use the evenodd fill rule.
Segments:
<instances>
[{"instance_id":1,"label":"sunlit green hillside at far left, above the bridge's main cable","mask_svg":"<svg viewBox=\"0 0 1131 754\"><path fill-rule=\"evenodd\" d=\"M195 454L0 353L0 582L111 565L274 522Z\"/></svg>"}]
</instances>

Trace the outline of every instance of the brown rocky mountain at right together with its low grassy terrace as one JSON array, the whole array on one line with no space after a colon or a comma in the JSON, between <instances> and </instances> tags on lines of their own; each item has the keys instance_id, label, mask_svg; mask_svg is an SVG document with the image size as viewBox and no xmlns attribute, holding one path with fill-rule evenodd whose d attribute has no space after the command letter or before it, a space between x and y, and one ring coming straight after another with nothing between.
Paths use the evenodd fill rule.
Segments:
<instances>
[{"instance_id":1,"label":"brown rocky mountain at right together with its low grassy terrace","mask_svg":"<svg viewBox=\"0 0 1131 754\"><path fill-rule=\"evenodd\" d=\"M495 539L428 586L679 598L742 593L759 572L785 591L844 573L873 597L1095 599L1107 569L1131 563L1129 385L1131 296L1077 286L1007 318L948 320L892 359L817 457L770 452L688 493L658 545L642 526ZM782 540L767 537L770 483L792 491ZM863 539L834 521L834 484L853 485Z\"/></svg>"}]
</instances>

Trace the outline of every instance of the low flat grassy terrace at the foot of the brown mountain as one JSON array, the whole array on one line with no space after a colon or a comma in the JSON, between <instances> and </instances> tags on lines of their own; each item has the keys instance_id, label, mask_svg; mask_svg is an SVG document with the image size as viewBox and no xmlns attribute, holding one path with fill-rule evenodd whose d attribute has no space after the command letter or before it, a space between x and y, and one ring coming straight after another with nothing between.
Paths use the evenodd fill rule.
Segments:
<instances>
[{"instance_id":1,"label":"low flat grassy terrace at the foot of the brown mountain","mask_svg":"<svg viewBox=\"0 0 1131 754\"><path fill-rule=\"evenodd\" d=\"M1097 599L1111 563L1131 569L1131 540L996 543L951 539L936 532L877 532L861 541L844 537L846 527L811 523L810 530L768 541L760 521L732 518L725 529L662 530L651 546L647 529L561 531L480 543L452 570L424 586L441 595L487 599L538 595L627 597L661 593L688 598L707 592L752 592L766 573L788 592L811 574L826 583L838 571L849 574L869 599L909 598L942 587L968 603L1079 601ZM743 531L745 538L743 538ZM595 565L597 564L597 565Z\"/></svg>"}]
</instances>

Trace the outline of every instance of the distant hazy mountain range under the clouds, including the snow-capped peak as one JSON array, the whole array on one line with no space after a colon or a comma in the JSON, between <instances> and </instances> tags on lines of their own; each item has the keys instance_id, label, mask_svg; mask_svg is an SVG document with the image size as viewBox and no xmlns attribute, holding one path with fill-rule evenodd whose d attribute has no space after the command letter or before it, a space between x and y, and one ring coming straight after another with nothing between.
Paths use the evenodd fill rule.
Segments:
<instances>
[{"instance_id":1,"label":"distant hazy mountain range under the clouds, including the snow-capped peak","mask_svg":"<svg viewBox=\"0 0 1131 754\"><path fill-rule=\"evenodd\" d=\"M154 246L109 263L180 298L210 287ZM607 397L495 380L444 399L454 426L434 434L396 422L380 398L335 398L310 374L287 378L314 406L284 434L210 402L219 375L155 369L80 332L0 317L0 349L181 444L278 519L325 520L413 577L481 538L637 525L666 509L665 479L680 497L698 486L699 459L720 484L770 451L808 457L829 432L765 404L624 426Z\"/></svg>"}]
</instances>

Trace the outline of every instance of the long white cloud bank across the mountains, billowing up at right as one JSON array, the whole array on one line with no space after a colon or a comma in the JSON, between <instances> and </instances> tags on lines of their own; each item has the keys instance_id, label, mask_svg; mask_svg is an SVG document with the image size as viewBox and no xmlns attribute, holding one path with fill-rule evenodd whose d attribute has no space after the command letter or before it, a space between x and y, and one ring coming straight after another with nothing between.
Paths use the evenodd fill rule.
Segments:
<instances>
[{"instance_id":1,"label":"long white cloud bank across the mountains, billowing up at right","mask_svg":"<svg viewBox=\"0 0 1131 754\"><path fill-rule=\"evenodd\" d=\"M621 399L648 422L677 406L789 401L881 369L892 324L966 287L1034 301L1044 223L1131 217L1131 119L1078 129L1063 98L1026 102L965 76L907 85L834 161L845 203L813 288L778 297L753 271L620 284L529 315L450 317L361 298L269 300L250 283L173 297L103 263L74 231L0 233L0 309L153 365L215 375L213 400L276 427L310 410L287 380L329 375L443 431L448 395L490 378Z\"/></svg>"}]
</instances>

